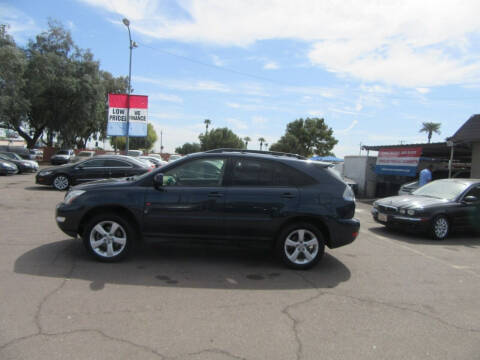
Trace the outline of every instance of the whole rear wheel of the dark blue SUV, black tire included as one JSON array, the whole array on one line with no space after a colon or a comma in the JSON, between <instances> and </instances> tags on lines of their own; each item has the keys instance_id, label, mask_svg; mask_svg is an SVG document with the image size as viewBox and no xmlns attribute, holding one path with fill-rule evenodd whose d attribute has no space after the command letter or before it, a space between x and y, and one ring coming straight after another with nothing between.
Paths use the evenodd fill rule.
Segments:
<instances>
[{"instance_id":1,"label":"whole rear wheel of the dark blue SUV, black tire included","mask_svg":"<svg viewBox=\"0 0 480 360\"><path fill-rule=\"evenodd\" d=\"M306 270L323 256L325 240L321 231L309 223L295 223L280 233L277 256L291 269Z\"/></svg>"}]
</instances>

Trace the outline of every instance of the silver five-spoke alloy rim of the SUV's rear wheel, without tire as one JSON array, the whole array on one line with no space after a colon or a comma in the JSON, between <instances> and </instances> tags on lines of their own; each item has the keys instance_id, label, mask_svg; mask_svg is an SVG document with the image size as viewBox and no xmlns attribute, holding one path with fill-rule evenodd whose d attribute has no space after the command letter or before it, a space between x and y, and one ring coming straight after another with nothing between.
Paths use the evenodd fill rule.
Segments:
<instances>
[{"instance_id":1,"label":"silver five-spoke alloy rim of the SUV's rear wheel, without tire","mask_svg":"<svg viewBox=\"0 0 480 360\"><path fill-rule=\"evenodd\" d=\"M307 229L292 231L285 240L284 251L288 260L297 265L308 264L318 254L319 243L315 234Z\"/></svg>"}]
</instances>

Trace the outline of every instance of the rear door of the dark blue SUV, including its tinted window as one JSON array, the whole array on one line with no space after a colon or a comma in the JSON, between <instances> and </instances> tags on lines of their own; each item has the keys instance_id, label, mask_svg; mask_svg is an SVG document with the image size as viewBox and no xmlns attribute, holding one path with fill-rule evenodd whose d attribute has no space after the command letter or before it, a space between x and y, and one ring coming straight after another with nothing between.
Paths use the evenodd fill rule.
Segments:
<instances>
[{"instance_id":1,"label":"rear door of the dark blue SUV, including its tinted window","mask_svg":"<svg viewBox=\"0 0 480 360\"><path fill-rule=\"evenodd\" d=\"M232 239L270 240L299 202L299 191L280 162L233 158L225 201Z\"/></svg>"}]
</instances>

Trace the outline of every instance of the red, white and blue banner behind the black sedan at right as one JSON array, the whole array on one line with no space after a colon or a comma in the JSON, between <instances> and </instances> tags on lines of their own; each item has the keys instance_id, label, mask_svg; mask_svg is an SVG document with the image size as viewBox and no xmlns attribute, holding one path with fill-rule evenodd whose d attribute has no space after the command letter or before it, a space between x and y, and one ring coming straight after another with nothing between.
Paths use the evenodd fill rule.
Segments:
<instances>
[{"instance_id":1,"label":"red, white and blue banner behind the black sedan at right","mask_svg":"<svg viewBox=\"0 0 480 360\"><path fill-rule=\"evenodd\" d=\"M382 148L378 152L375 172L380 175L416 176L421 147Z\"/></svg>"}]
</instances>

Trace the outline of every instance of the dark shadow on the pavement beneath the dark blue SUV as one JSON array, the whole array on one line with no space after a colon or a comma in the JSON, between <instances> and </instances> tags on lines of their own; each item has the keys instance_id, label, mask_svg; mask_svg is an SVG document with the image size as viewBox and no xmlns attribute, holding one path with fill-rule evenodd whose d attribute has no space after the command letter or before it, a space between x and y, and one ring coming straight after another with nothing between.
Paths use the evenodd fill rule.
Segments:
<instances>
[{"instance_id":1,"label":"dark shadow on the pavement beneath the dark blue SUV","mask_svg":"<svg viewBox=\"0 0 480 360\"><path fill-rule=\"evenodd\" d=\"M253 249L147 243L131 259L100 263L80 240L63 240L34 248L15 261L14 271L46 277L90 281L92 291L105 284L239 290L333 288L350 278L350 270L325 254L316 267L294 271L271 252Z\"/></svg>"}]
</instances>

